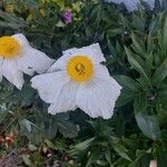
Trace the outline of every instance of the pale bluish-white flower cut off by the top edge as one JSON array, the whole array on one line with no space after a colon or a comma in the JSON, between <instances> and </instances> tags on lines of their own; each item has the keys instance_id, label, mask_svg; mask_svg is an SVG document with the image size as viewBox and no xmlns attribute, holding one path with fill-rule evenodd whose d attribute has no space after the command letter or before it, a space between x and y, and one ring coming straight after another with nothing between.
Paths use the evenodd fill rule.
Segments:
<instances>
[{"instance_id":1,"label":"pale bluish-white flower cut off by the top edge","mask_svg":"<svg viewBox=\"0 0 167 167\"><path fill-rule=\"evenodd\" d=\"M105 0L105 1L114 2L117 4L122 2L129 12L137 10L140 4L140 0ZM143 1L146 2L150 7L151 10L155 8L155 0L143 0Z\"/></svg>"}]
</instances>

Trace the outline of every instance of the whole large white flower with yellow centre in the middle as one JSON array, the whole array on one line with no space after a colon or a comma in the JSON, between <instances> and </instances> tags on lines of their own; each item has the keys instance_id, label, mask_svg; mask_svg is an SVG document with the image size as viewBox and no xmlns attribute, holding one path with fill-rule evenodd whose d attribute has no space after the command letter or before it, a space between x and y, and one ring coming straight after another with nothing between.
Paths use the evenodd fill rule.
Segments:
<instances>
[{"instance_id":1,"label":"whole large white flower with yellow centre in the middle","mask_svg":"<svg viewBox=\"0 0 167 167\"><path fill-rule=\"evenodd\" d=\"M42 100L51 104L48 112L56 115L76 108L90 117L108 119L121 87L109 76L98 43L63 51L49 69L50 73L31 79Z\"/></svg>"}]
</instances>

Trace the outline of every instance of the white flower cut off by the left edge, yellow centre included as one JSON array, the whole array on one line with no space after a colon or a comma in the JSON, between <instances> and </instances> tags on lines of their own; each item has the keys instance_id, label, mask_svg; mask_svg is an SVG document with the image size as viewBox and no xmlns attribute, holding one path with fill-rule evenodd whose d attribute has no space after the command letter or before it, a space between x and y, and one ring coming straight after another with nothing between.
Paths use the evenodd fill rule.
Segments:
<instances>
[{"instance_id":1,"label":"white flower cut off by the left edge, yellow centre included","mask_svg":"<svg viewBox=\"0 0 167 167\"><path fill-rule=\"evenodd\" d=\"M2 76L18 89L24 82L23 72L45 72L53 62L46 53L32 48L21 33L0 38L0 81Z\"/></svg>"}]
</instances>

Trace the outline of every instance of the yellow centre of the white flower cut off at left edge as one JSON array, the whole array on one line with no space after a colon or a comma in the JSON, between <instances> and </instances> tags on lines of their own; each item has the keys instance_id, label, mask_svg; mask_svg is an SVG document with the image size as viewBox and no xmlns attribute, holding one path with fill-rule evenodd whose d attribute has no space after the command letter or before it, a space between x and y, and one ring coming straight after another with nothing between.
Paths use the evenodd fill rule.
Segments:
<instances>
[{"instance_id":1,"label":"yellow centre of the white flower cut off at left edge","mask_svg":"<svg viewBox=\"0 0 167 167\"><path fill-rule=\"evenodd\" d=\"M4 36L0 38L0 57L13 58L18 56L20 51L19 42L10 36Z\"/></svg>"}]
</instances>

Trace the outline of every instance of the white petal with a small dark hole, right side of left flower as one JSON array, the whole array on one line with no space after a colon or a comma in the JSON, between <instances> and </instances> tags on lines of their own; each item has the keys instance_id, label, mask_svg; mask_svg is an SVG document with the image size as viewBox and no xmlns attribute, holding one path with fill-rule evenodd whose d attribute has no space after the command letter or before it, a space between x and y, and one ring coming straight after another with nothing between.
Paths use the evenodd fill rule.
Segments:
<instances>
[{"instance_id":1,"label":"white petal with a small dark hole, right side of left flower","mask_svg":"<svg viewBox=\"0 0 167 167\"><path fill-rule=\"evenodd\" d=\"M45 52L31 47L24 47L22 53L17 58L17 61L18 68L30 76L32 76L35 71L43 73L53 62Z\"/></svg>"}]
</instances>

